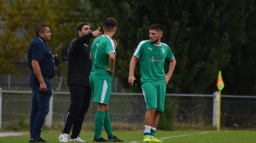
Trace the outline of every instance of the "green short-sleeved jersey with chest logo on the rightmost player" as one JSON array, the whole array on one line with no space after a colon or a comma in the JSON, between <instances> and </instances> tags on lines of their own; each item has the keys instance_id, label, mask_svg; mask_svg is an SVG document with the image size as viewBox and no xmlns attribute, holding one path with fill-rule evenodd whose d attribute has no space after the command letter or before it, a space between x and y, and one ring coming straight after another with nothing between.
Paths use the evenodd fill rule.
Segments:
<instances>
[{"instance_id":1,"label":"green short-sleeved jersey with chest logo on the rightmost player","mask_svg":"<svg viewBox=\"0 0 256 143\"><path fill-rule=\"evenodd\" d=\"M174 54L165 43L155 45L150 40L139 43L133 54L140 60L141 83L146 81L164 81L165 71L163 64L166 60L172 60Z\"/></svg>"}]
</instances>

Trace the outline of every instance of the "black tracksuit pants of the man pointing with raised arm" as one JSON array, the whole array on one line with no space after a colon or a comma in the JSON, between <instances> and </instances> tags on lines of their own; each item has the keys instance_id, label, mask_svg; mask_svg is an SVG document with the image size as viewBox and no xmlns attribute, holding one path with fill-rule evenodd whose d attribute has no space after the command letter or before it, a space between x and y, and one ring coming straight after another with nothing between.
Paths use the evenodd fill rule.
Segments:
<instances>
[{"instance_id":1,"label":"black tracksuit pants of the man pointing with raised arm","mask_svg":"<svg viewBox=\"0 0 256 143\"><path fill-rule=\"evenodd\" d=\"M71 139L79 136L84 116L89 108L91 101L91 87L82 86L79 84L68 84L70 91L70 109L68 110L62 134L70 134L72 129Z\"/></svg>"}]
</instances>

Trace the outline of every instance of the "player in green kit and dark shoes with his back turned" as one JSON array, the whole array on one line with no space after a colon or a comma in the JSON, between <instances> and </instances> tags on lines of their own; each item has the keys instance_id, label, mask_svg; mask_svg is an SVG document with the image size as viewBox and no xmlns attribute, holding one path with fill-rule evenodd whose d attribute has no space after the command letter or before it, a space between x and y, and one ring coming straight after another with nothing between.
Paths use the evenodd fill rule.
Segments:
<instances>
[{"instance_id":1,"label":"player in green kit and dark shoes with his back turned","mask_svg":"<svg viewBox=\"0 0 256 143\"><path fill-rule=\"evenodd\" d=\"M112 40L112 37L117 31L117 21L113 18L106 19L103 30L104 34L94 39L89 57L93 66L89 77L93 102L98 103L93 142L124 142L112 133L108 105L115 68L115 47L117 47L117 43L114 39ZM101 137L103 126L108 134L108 140Z\"/></svg>"}]
</instances>

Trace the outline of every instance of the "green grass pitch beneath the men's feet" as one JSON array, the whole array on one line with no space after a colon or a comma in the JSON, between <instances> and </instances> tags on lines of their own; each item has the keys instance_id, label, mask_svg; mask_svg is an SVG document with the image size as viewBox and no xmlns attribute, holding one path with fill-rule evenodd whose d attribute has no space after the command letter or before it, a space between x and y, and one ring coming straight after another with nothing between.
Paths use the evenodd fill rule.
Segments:
<instances>
[{"instance_id":1,"label":"green grass pitch beneath the men's feet","mask_svg":"<svg viewBox=\"0 0 256 143\"><path fill-rule=\"evenodd\" d=\"M136 143L142 142L142 132L113 132L124 142ZM60 133L42 133L42 139L48 142L58 142ZM80 137L86 142L93 142L94 132L82 132ZM102 137L106 139L106 133ZM228 130L228 131L157 131L156 137L163 142L186 142L186 143L240 143L256 142L256 131L252 130ZM29 134L20 136L0 137L1 143L28 143Z\"/></svg>"}]
</instances>

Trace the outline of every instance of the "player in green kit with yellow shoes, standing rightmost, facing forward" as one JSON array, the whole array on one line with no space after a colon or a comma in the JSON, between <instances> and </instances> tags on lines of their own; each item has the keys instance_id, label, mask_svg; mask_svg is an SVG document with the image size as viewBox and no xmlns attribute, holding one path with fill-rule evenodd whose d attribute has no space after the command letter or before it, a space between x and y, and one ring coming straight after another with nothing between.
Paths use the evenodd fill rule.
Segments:
<instances>
[{"instance_id":1,"label":"player in green kit with yellow shoes, standing rightmost, facing forward","mask_svg":"<svg viewBox=\"0 0 256 143\"><path fill-rule=\"evenodd\" d=\"M146 101L147 112L144 118L143 142L162 142L155 137L159 115L164 112L164 101L166 84L169 82L172 72L176 66L176 59L169 46L161 43L163 26L154 24L150 26L150 40L139 43L130 62L128 82L133 84L134 69L136 62L140 59L141 88ZM165 60L170 61L169 71L165 74L163 64Z\"/></svg>"}]
</instances>

